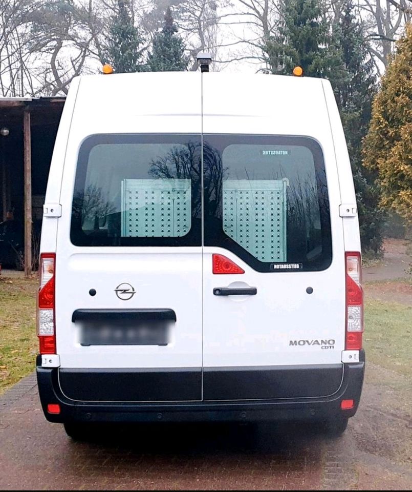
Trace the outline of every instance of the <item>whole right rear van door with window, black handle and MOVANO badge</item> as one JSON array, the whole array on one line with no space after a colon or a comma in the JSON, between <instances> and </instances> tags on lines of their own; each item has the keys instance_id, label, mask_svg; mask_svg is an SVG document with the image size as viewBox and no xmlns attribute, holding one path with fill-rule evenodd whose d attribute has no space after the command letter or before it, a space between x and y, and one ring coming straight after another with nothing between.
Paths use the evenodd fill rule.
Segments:
<instances>
[{"instance_id":1,"label":"whole right rear van door with window, black handle and MOVANO badge","mask_svg":"<svg viewBox=\"0 0 412 492\"><path fill-rule=\"evenodd\" d=\"M321 81L207 73L203 115L204 400L331 395L344 247Z\"/></svg>"}]
</instances>

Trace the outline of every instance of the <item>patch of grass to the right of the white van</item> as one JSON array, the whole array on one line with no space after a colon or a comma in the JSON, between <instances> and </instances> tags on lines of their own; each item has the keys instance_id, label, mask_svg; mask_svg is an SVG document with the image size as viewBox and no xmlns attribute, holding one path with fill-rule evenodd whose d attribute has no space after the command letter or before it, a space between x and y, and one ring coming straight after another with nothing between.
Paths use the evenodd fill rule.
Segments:
<instances>
[{"instance_id":1,"label":"patch of grass to the right of the white van","mask_svg":"<svg viewBox=\"0 0 412 492\"><path fill-rule=\"evenodd\" d=\"M366 360L412 377L412 306L376 299L365 303Z\"/></svg>"}]
</instances>

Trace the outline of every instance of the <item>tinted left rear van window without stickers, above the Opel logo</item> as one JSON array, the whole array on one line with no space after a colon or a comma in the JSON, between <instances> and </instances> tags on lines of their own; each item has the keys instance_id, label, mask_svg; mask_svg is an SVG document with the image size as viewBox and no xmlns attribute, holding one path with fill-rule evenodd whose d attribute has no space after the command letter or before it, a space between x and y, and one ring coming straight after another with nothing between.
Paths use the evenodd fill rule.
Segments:
<instances>
[{"instance_id":1,"label":"tinted left rear van window without stickers, above the Opel logo","mask_svg":"<svg viewBox=\"0 0 412 492\"><path fill-rule=\"evenodd\" d=\"M93 135L79 152L76 245L201 244L197 135Z\"/></svg>"}]
</instances>

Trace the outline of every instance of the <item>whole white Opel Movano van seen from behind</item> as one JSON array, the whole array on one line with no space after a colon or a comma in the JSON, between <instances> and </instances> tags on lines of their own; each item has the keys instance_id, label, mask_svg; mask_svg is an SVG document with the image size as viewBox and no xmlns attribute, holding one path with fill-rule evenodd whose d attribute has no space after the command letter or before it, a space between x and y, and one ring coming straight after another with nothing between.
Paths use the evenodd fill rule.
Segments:
<instances>
[{"instance_id":1,"label":"whole white Opel Movano van seen from behind","mask_svg":"<svg viewBox=\"0 0 412 492\"><path fill-rule=\"evenodd\" d=\"M42 407L111 421L326 422L363 374L359 226L327 80L73 80L41 234Z\"/></svg>"}]
</instances>

